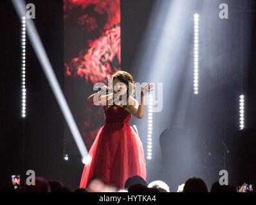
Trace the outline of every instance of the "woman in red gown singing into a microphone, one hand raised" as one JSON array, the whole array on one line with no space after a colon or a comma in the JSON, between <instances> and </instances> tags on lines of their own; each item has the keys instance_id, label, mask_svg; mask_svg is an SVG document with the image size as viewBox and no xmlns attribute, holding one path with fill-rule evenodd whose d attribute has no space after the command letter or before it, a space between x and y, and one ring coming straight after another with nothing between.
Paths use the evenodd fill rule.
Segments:
<instances>
[{"instance_id":1,"label":"woman in red gown singing into a microphone, one hand raised","mask_svg":"<svg viewBox=\"0 0 256 205\"><path fill-rule=\"evenodd\" d=\"M141 90L140 104L133 98L133 76L125 71L118 71L112 76L117 94L93 94L88 97L90 104L97 101L113 102L104 106L105 125L100 128L95 142L89 150L91 161L84 166L80 188L86 188L92 179L102 179L105 184L123 189L125 181L134 175L146 179L146 164L142 142L134 129L129 125L132 115L142 119L145 111L144 97L153 85L146 85ZM119 86L121 84L121 86ZM110 90L105 86L106 91ZM129 95L130 94L130 95ZM116 96L118 95L118 96ZM116 101L125 96L125 101ZM116 103L115 103L116 102ZM118 102L118 103L117 103ZM121 102L121 103L120 103ZM123 102L123 104L122 104ZM127 102L127 103L125 103Z\"/></svg>"}]
</instances>

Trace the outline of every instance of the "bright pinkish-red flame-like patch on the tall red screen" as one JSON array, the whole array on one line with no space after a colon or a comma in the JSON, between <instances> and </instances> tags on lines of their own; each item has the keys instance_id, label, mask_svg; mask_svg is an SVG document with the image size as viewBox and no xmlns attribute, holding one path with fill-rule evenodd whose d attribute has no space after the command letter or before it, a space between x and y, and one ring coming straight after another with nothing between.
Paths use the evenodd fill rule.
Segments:
<instances>
[{"instance_id":1,"label":"bright pinkish-red flame-like patch on the tall red screen","mask_svg":"<svg viewBox=\"0 0 256 205\"><path fill-rule=\"evenodd\" d=\"M120 26L105 32L103 37L89 41L86 54L81 51L77 58L65 64L66 74L80 76L86 83L107 83L106 79L120 70Z\"/></svg>"}]
</instances>

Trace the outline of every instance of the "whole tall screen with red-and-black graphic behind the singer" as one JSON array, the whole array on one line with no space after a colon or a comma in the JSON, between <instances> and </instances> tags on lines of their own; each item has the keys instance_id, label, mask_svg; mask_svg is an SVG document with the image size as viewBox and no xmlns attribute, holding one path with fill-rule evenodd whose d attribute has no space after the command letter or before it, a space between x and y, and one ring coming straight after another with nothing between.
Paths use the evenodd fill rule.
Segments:
<instances>
[{"instance_id":1,"label":"whole tall screen with red-and-black graphic behind the singer","mask_svg":"<svg viewBox=\"0 0 256 205\"><path fill-rule=\"evenodd\" d=\"M65 95L89 149L104 115L82 97L120 70L120 0L64 0L64 48ZM79 100L84 104L72 107Z\"/></svg>"}]
</instances>

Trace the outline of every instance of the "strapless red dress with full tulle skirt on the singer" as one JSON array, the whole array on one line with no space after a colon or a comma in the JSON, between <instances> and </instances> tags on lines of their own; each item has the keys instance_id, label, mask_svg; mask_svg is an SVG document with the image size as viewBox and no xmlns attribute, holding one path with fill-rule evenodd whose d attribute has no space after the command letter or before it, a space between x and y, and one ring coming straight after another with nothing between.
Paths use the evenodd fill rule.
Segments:
<instances>
[{"instance_id":1,"label":"strapless red dress with full tulle skirt on the singer","mask_svg":"<svg viewBox=\"0 0 256 205\"><path fill-rule=\"evenodd\" d=\"M107 108L104 113L105 125L98 131L89 150L91 162L84 165L80 188L86 188L94 178L122 189L131 176L146 179L142 142L128 124L131 113L117 105Z\"/></svg>"}]
</instances>

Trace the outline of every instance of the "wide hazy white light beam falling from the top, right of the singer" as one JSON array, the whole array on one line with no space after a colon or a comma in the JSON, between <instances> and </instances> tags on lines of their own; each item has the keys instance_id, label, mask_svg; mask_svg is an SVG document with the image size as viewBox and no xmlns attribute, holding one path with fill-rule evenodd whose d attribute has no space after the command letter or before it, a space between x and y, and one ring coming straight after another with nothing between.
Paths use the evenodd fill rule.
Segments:
<instances>
[{"instance_id":1,"label":"wide hazy white light beam falling from the top, right of the singer","mask_svg":"<svg viewBox=\"0 0 256 205\"><path fill-rule=\"evenodd\" d=\"M152 145L153 139L158 139L163 129L178 120L174 113L180 110L183 112L182 116L185 116L186 109L177 108L177 106L181 104L187 106L189 95L186 91L190 92L191 82L185 81L184 92L180 92L178 86L181 78L184 78L184 68L187 67L186 54L190 49L188 45L190 46L191 35L193 35L191 16L194 15L192 12L194 7L196 7L194 3L184 0L156 1L143 33L142 42L133 62L133 68L138 70L136 78L138 81L164 85L163 110L160 113L154 113L154 133L148 129L149 126L145 120L138 122L140 129L147 132L146 146ZM176 103L176 95L179 93L182 93L183 97L180 97L180 103ZM157 97L154 99L158 101ZM152 117L152 113L148 113L148 116ZM157 143L152 145L154 151L157 150L156 146Z\"/></svg>"}]
</instances>

